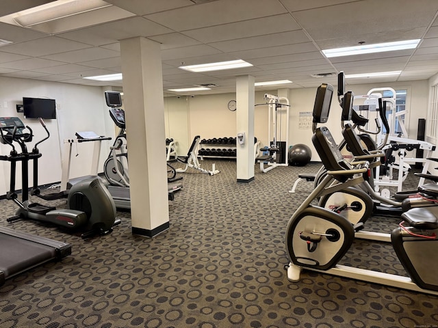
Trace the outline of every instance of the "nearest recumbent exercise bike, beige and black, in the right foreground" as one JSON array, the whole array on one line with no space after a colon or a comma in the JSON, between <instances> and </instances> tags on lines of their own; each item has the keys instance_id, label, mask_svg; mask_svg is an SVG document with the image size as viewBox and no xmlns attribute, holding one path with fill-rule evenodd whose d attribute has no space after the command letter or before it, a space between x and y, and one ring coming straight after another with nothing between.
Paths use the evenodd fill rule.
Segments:
<instances>
[{"instance_id":1,"label":"nearest recumbent exercise bike, beige and black, in the right foreground","mask_svg":"<svg viewBox=\"0 0 438 328\"><path fill-rule=\"evenodd\" d=\"M328 128L317 127L329 117L333 87L318 87L313 107L312 142L327 175L292 215L286 228L286 249L290 259L287 277L298 282L300 271L309 269L365 282L438 295L437 214L428 208L413 208L402 214L404 220L391 232L391 243L409 277L339 265L339 260L352 247L355 232L362 224L353 226L336 210L313 206L311 202L329 189L355 186L368 175L368 161L348 163L339 152ZM333 182L335 179L336 183Z\"/></svg>"}]
</instances>

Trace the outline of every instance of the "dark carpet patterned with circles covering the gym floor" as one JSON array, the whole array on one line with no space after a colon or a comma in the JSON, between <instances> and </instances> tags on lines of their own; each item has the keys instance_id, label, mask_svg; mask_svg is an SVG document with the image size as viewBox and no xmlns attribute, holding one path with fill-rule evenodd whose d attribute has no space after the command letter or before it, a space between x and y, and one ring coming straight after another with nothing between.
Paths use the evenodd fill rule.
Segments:
<instances>
[{"instance_id":1,"label":"dark carpet patterned with circles covering the gym floor","mask_svg":"<svg viewBox=\"0 0 438 328\"><path fill-rule=\"evenodd\" d=\"M287 191L318 167L262 174L257 166L250 184L237 184L233 162L216 162L216 176L182 174L170 229L152 239L133 236L123 212L112 234L90 241L40 223L11 225L15 205L1 200L0 225L71 243L73 254L1 286L0 327L438 327L438 297L308 271L287 281L285 228L313 184ZM389 231L398 221L370 225ZM404 274L384 243L355 241L344 263Z\"/></svg>"}]
</instances>

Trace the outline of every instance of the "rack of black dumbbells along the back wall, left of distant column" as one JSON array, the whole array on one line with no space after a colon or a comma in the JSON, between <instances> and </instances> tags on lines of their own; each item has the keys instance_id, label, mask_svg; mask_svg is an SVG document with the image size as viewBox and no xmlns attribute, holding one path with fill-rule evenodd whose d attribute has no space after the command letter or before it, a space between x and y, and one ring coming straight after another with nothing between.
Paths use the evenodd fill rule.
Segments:
<instances>
[{"instance_id":1,"label":"rack of black dumbbells along the back wall, left of distant column","mask_svg":"<svg viewBox=\"0 0 438 328\"><path fill-rule=\"evenodd\" d=\"M235 159L236 138L222 137L212 139L201 139L198 156L201 159Z\"/></svg>"}]
</instances>

